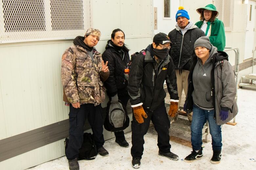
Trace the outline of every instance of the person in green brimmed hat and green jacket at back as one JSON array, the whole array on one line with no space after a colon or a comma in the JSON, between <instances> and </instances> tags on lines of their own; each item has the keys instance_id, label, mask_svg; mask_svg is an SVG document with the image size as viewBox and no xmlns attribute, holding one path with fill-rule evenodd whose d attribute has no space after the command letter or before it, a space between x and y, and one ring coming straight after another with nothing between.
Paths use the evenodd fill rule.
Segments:
<instances>
[{"instance_id":1,"label":"person in green brimmed hat and green jacket at back","mask_svg":"<svg viewBox=\"0 0 256 170\"><path fill-rule=\"evenodd\" d=\"M216 18L219 15L216 7L213 4L208 4L203 8L197 9L197 12L201 16L200 21L195 25L204 31L218 51L223 51L226 44L225 30L223 22Z\"/></svg>"}]
</instances>

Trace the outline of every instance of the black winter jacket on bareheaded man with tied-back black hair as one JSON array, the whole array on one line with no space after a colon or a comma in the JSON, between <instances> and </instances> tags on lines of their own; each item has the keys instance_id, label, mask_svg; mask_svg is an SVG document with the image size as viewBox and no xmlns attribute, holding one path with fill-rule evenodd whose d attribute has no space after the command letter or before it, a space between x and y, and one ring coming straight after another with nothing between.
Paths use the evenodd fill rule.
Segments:
<instances>
[{"instance_id":1,"label":"black winter jacket on bareheaded man with tied-back black hair","mask_svg":"<svg viewBox=\"0 0 256 170\"><path fill-rule=\"evenodd\" d=\"M109 97L118 95L128 95L127 85L128 82L124 79L124 69L126 64L129 63L130 57L127 48L122 48L124 55L120 53L109 40L106 45L106 50L102 54L104 62L108 61L109 77L104 82ZM122 59L123 57L123 59Z\"/></svg>"}]
</instances>

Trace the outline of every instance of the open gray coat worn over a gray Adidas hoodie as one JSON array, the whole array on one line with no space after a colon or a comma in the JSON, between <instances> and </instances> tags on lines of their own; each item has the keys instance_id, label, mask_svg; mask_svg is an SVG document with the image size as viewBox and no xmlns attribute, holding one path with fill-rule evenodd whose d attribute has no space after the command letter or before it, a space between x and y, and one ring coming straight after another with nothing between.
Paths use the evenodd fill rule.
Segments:
<instances>
[{"instance_id":1,"label":"open gray coat worn over a gray Adidas hoodie","mask_svg":"<svg viewBox=\"0 0 256 170\"><path fill-rule=\"evenodd\" d=\"M235 100L236 81L232 66L228 62L228 55L223 51L217 52L210 56L213 68L211 70L211 84L209 86L212 88L212 102L215 111L214 118L216 119L217 125L223 125L232 120L238 112ZM197 62L197 59L194 59L188 78L188 93L185 102L187 114L193 111L194 101L192 93L194 91L194 83L192 76ZM201 103L197 104L200 105ZM221 110L228 110L228 118L224 121L221 120Z\"/></svg>"}]
</instances>

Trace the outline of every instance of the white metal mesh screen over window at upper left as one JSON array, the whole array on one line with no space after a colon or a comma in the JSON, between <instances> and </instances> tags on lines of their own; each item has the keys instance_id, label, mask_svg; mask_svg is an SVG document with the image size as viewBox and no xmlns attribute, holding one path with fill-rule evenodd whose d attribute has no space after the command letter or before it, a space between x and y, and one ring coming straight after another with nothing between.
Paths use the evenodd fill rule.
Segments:
<instances>
[{"instance_id":1,"label":"white metal mesh screen over window at upper left","mask_svg":"<svg viewBox=\"0 0 256 170\"><path fill-rule=\"evenodd\" d=\"M73 39L90 15L90 0L0 0L0 43Z\"/></svg>"}]
</instances>

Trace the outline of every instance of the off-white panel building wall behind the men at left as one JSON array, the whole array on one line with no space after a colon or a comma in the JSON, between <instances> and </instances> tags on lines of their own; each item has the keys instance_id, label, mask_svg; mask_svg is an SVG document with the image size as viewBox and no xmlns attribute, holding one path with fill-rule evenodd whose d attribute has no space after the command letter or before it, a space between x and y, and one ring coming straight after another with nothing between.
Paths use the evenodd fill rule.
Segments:
<instances>
[{"instance_id":1,"label":"off-white panel building wall behind the men at left","mask_svg":"<svg viewBox=\"0 0 256 170\"><path fill-rule=\"evenodd\" d=\"M104 52L115 28L124 31L130 55L145 49L152 43L152 13L151 0L91 1L92 26L102 33L96 49ZM0 140L68 119L60 69L61 56L72 44L73 40L0 43ZM104 137L114 133L104 131ZM63 155L60 140L1 161L0 167L26 169Z\"/></svg>"}]
</instances>

